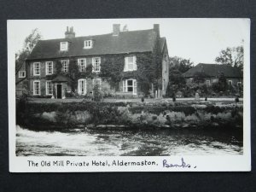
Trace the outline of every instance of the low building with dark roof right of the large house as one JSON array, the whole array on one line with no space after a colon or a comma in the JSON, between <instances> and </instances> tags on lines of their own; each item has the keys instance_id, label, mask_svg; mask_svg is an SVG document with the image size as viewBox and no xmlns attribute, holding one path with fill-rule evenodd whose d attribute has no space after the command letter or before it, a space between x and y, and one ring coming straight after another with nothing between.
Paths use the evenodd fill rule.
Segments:
<instances>
[{"instance_id":1,"label":"low building with dark roof right of the large house","mask_svg":"<svg viewBox=\"0 0 256 192\"><path fill-rule=\"evenodd\" d=\"M205 76L205 84L208 86L218 82L218 78L224 75L230 85L237 86L242 84L242 74L235 68L228 65L199 63L195 67L190 68L183 73L187 84L191 83L195 75L203 74Z\"/></svg>"}]
</instances>

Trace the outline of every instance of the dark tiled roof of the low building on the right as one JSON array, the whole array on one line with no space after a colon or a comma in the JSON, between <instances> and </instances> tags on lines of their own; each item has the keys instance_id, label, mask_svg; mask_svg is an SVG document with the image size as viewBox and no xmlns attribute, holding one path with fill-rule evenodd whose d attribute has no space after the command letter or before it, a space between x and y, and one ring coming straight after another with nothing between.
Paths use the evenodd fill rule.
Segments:
<instances>
[{"instance_id":1,"label":"dark tiled roof of the low building on the right","mask_svg":"<svg viewBox=\"0 0 256 192\"><path fill-rule=\"evenodd\" d=\"M195 73L198 72L205 73L209 77L218 77L221 73L224 73L227 78L242 78L241 73L235 67L206 63L199 63L195 67L190 68L189 71L183 73L183 77L193 78Z\"/></svg>"}]
</instances>

